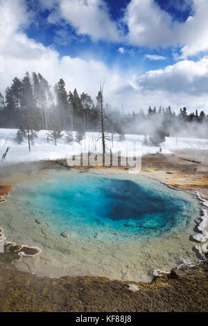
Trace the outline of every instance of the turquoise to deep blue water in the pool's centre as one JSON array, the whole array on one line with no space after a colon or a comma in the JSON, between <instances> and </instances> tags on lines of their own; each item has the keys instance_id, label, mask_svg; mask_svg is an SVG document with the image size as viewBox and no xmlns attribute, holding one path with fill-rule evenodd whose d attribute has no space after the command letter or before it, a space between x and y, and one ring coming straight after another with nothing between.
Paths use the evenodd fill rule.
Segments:
<instances>
[{"instance_id":1,"label":"turquoise to deep blue water in the pool's centre","mask_svg":"<svg viewBox=\"0 0 208 326\"><path fill-rule=\"evenodd\" d=\"M184 228L195 208L183 192L147 178L128 180L76 173L33 186L24 197L32 215L55 230L162 234Z\"/></svg>"}]
</instances>

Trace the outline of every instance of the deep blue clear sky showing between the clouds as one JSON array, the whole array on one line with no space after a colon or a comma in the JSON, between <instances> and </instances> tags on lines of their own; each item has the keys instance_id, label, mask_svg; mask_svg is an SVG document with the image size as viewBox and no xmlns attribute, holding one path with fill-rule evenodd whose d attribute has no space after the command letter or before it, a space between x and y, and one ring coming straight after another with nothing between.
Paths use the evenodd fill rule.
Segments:
<instances>
[{"instance_id":1,"label":"deep blue clear sky showing between the clouds","mask_svg":"<svg viewBox=\"0 0 208 326\"><path fill-rule=\"evenodd\" d=\"M75 0L76 1L76 0ZM72 58L102 60L106 65L112 67L118 65L120 69L130 69L139 73L144 73L150 69L164 68L175 62L171 46L166 48L148 49L144 46L132 46L123 44L122 41L110 42L107 40L92 40L90 35L79 35L76 29L69 23L60 20L56 24L50 24L48 17L54 8L41 8L28 0L28 8L36 14L35 21L26 29L26 35L45 46L53 46L60 56L70 55ZM123 17L125 8L130 0L105 0L109 9L109 14L114 22L119 22ZM186 0L155 0L155 3L162 10L168 12L173 17L173 22L185 22L191 15L191 5L186 5ZM180 6L179 6L180 3ZM190 2L191 3L191 2ZM125 26L126 31L128 28ZM119 49L125 49L123 53ZM146 54L163 56L163 60L150 60Z\"/></svg>"}]
</instances>

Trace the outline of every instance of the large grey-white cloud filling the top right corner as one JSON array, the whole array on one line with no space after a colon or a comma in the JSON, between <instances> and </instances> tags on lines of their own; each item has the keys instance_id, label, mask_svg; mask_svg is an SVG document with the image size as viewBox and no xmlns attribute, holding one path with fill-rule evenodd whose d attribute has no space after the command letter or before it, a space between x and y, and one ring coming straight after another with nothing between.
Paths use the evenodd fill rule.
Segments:
<instances>
[{"instance_id":1,"label":"large grey-white cloud filling the top right corner","mask_svg":"<svg viewBox=\"0 0 208 326\"><path fill-rule=\"evenodd\" d=\"M131 0L125 10L126 42L135 46L181 46L182 58L208 51L208 1L193 0L193 17L173 22L154 0Z\"/></svg>"}]
</instances>

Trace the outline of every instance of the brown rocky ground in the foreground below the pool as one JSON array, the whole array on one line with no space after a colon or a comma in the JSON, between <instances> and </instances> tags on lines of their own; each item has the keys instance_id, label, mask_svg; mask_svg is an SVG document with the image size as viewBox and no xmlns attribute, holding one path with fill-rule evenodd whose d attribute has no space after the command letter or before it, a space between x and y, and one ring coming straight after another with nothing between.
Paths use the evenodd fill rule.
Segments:
<instances>
[{"instance_id":1,"label":"brown rocky ground in the foreground below the pool","mask_svg":"<svg viewBox=\"0 0 208 326\"><path fill-rule=\"evenodd\" d=\"M36 277L0 263L0 311L207 311L208 266L173 270L150 284L105 277ZM134 288L134 287L133 287Z\"/></svg>"}]
</instances>

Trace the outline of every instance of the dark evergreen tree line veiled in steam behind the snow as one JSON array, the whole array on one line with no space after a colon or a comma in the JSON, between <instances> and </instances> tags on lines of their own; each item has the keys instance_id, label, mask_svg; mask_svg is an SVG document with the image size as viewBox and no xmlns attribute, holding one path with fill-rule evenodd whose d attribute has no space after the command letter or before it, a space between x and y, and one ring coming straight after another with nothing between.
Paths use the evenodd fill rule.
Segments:
<instances>
[{"instance_id":1,"label":"dark evergreen tree line veiled in steam behind the snow","mask_svg":"<svg viewBox=\"0 0 208 326\"><path fill-rule=\"evenodd\" d=\"M55 96L54 96L54 95ZM203 128L202 128L203 126ZM21 80L15 77L10 87L6 88L5 96L0 93L0 128L18 128L17 142L25 138L28 147L39 130L50 130L48 140L62 137L66 130L67 139L73 139L72 131L76 130L76 139L83 139L85 132L100 131L119 134L122 141L125 134L150 135L156 143L166 136L180 135L184 128L198 137L208 137L206 130L208 116L205 112L187 112L180 109L175 114L170 107L148 108L148 112L124 113L104 103L103 87L100 87L96 103L89 94L78 94L77 90L67 91L63 79L55 84L54 92L47 80L41 75L26 72ZM203 129L202 135L197 130ZM103 144L105 147L105 144ZM104 148L105 149L105 148Z\"/></svg>"}]
</instances>

